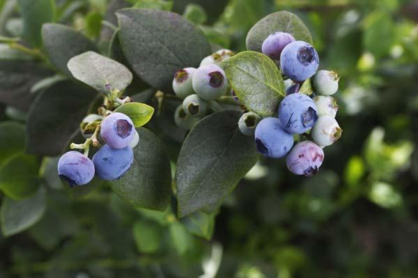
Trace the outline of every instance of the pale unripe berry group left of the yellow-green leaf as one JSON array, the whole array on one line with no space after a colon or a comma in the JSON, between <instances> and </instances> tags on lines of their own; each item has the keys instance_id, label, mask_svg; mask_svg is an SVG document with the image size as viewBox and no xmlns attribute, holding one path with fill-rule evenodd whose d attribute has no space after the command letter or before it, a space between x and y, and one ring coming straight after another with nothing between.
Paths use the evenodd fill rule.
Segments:
<instances>
[{"instance_id":1,"label":"pale unripe berry group left of the yellow-green leaf","mask_svg":"<svg viewBox=\"0 0 418 278\"><path fill-rule=\"evenodd\" d=\"M209 109L219 107L216 100L229 91L228 80L219 63L233 55L229 49L220 49L204 58L199 68L176 72L173 91L183 104L176 109L174 121L180 128L190 130Z\"/></svg>"}]
</instances>

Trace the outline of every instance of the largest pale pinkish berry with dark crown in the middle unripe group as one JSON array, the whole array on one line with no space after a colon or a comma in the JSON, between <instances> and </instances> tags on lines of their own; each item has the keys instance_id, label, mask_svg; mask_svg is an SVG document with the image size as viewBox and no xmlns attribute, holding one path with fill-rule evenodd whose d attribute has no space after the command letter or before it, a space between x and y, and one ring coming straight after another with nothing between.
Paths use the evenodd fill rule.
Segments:
<instances>
[{"instance_id":1,"label":"largest pale pinkish berry with dark crown in the middle unripe group","mask_svg":"<svg viewBox=\"0 0 418 278\"><path fill-rule=\"evenodd\" d=\"M226 75L219 65L203 65L194 72L193 89L204 100L217 100L228 89Z\"/></svg>"}]
</instances>

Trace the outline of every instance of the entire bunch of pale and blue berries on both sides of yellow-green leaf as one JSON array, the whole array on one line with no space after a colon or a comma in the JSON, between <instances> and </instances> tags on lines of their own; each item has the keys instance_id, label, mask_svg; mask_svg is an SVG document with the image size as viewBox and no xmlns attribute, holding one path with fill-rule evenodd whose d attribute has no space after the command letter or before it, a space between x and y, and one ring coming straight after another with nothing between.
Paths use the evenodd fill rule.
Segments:
<instances>
[{"instance_id":1,"label":"entire bunch of pale and blue berries on both sides of yellow-green leaf","mask_svg":"<svg viewBox=\"0 0 418 278\"><path fill-rule=\"evenodd\" d=\"M288 155L286 164L292 173L312 176L323 163L323 148L341 137L342 130L335 120L339 107L330 96L338 91L339 77L332 71L317 71L319 57L314 47L295 40L289 33L270 34L261 48L287 77L286 98L280 102L277 118L262 118L249 111L242 115L238 127L242 134L255 137L257 150L263 155L274 158ZM173 91L183 99L183 104L177 108L174 120L180 128L191 129L214 106L215 100L226 95L229 84L219 63L231 56L231 50L221 49L203 59L199 68L176 72ZM301 85L310 78L313 98L299 93ZM299 139L303 134L309 140L293 146L296 134Z\"/></svg>"}]
</instances>

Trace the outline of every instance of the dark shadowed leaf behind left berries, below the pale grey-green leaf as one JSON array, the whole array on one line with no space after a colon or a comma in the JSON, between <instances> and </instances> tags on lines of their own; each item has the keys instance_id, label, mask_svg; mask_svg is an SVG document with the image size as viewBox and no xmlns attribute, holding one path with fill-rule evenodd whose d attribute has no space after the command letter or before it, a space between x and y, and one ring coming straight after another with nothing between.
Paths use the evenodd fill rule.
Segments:
<instances>
[{"instance_id":1,"label":"dark shadowed leaf behind left berries, below the pale grey-green leaf","mask_svg":"<svg viewBox=\"0 0 418 278\"><path fill-rule=\"evenodd\" d=\"M96 95L91 88L70 81L56 83L42 91L29 111L28 153L59 155L68 138L79 128Z\"/></svg>"}]
</instances>

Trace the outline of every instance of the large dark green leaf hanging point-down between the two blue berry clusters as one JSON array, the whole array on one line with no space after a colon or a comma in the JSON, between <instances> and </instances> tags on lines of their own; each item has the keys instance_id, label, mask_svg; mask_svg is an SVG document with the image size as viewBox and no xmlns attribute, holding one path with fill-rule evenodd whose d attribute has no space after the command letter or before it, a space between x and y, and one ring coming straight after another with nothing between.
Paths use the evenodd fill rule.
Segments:
<instances>
[{"instance_id":1,"label":"large dark green leaf hanging point-down between the two blue berry clusters","mask_svg":"<svg viewBox=\"0 0 418 278\"><path fill-rule=\"evenodd\" d=\"M254 139L238 129L238 111L222 111L199 121L178 157L178 215L217 203L256 164Z\"/></svg>"}]
</instances>

